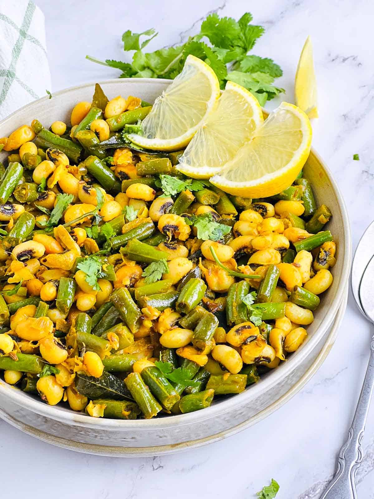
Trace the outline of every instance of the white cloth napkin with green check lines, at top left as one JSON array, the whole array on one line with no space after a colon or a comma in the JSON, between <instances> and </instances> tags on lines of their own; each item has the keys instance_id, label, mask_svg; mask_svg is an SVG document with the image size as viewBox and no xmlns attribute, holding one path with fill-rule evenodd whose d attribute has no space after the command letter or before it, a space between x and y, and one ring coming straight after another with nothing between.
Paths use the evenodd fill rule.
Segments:
<instances>
[{"instance_id":1,"label":"white cloth napkin with green check lines, at top left","mask_svg":"<svg viewBox=\"0 0 374 499\"><path fill-rule=\"evenodd\" d=\"M0 0L0 120L50 85L42 11L32 1Z\"/></svg>"}]
</instances>

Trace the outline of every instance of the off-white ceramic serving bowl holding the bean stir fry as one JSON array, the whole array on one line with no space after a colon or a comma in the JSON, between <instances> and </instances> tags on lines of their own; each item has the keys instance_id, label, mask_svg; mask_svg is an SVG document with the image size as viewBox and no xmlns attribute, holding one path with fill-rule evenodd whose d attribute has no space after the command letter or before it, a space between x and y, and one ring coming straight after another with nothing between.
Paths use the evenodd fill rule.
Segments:
<instances>
[{"instance_id":1,"label":"off-white ceramic serving bowl holding the bean stir fry","mask_svg":"<svg viewBox=\"0 0 374 499\"><path fill-rule=\"evenodd\" d=\"M114 79L100 83L109 99L136 95L153 102L170 80ZM69 123L74 105L90 101L94 84L84 84L28 104L0 122L0 137L36 118L49 127L53 121ZM6 157L0 153L0 161ZM327 204L337 243L334 282L324 294L308 326L304 344L277 369L267 373L243 393L215 401L202 411L152 420L122 421L91 418L59 406L48 406L0 379L0 417L38 438L81 452L111 456L160 455L204 445L224 438L263 419L285 403L310 379L325 359L337 334L347 303L351 265L351 234L347 211L330 171L315 151L304 167L317 204ZM339 311L339 313L338 313Z\"/></svg>"}]
</instances>

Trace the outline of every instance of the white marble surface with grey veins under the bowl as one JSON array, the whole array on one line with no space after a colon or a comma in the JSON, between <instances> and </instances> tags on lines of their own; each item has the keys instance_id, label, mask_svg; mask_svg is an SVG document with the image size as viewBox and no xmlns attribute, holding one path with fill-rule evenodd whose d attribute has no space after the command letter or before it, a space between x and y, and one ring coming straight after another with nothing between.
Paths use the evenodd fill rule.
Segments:
<instances>
[{"instance_id":1,"label":"white marble surface with grey veins under the bowl","mask_svg":"<svg viewBox=\"0 0 374 499\"><path fill-rule=\"evenodd\" d=\"M160 31L150 48L184 41L210 11L245 10L266 33L253 53L284 70L278 81L293 101L298 56L312 36L320 100L314 147L333 170L346 199L354 246L373 219L374 71L370 0L35 0L46 17L52 91L118 75L84 59L121 58L128 28ZM16 3L16 2L14 2ZM269 108L276 103L269 103ZM354 153L360 161L353 161ZM207 447L162 458L102 458L44 444L0 421L3 497L71 499L255 498L275 478L277 499L317 499L335 469L368 361L370 327L350 296L338 339L307 386L265 421ZM374 407L358 473L359 498L374 499ZM4 472L6 470L6 472ZM23 470L21 473L20 470ZM20 477L23 479L20 480ZM25 477L28 477L24 480Z\"/></svg>"}]
</instances>

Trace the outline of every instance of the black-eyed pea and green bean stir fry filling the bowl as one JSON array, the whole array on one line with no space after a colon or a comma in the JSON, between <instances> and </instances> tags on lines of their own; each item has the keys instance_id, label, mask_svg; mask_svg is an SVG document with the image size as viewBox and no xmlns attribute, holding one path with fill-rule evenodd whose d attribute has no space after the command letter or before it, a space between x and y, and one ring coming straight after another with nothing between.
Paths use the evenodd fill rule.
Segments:
<instances>
[{"instance_id":1,"label":"black-eyed pea and green bean stir fry filling the bowl","mask_svg":"<svg viewBox=\"0 0 374 499\"><path fill-rule=\"evenodd\" d=\"M70 124L0 139L0 373L47 404L119 419L206 408L287 362L332 284L332 214L301 168L257 198L187 176L188 134L164 111L169 138L149 131L163 99L108 101L96 85Z\"/></svg>"}]
</instances>

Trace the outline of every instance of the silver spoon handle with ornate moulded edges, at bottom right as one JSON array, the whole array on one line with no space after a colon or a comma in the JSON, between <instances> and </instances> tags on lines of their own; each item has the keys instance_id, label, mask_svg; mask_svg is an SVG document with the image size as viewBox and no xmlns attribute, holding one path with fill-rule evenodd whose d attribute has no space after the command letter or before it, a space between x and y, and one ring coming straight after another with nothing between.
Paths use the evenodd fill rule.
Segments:
<instances>
[{"instance_id":1,"label":"silver spoon handle with ornate moulded edges, at bottom right","mask_svg":"<svg viewBox=\"0 0 374 499\"><path fill-rule=\"evenodd\" d=\"M363 460L362 441L374 387L374 336L356 413L339 456L337 472L320 499L357 499L355 476Z\"/></svg>"}]
</instances>

